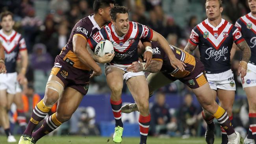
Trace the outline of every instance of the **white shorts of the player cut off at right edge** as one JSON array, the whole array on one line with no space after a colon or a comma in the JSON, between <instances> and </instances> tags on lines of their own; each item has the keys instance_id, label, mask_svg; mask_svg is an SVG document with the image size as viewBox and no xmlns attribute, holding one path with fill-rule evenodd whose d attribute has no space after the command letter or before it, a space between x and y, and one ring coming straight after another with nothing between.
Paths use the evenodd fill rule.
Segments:
<instances>
[{"instance_id":1,"label":"white shorts of the player cut off at right edge","mask_svg":"<svg viewBox=\"0 0 256 144\"><path fill-rule=\"evenodd\" d=\"M256 86L256 65L248 63L248 65L247 65L247 74L241 80L242 80L243 89L245 87Z\"/></svg>"}]
</instances>

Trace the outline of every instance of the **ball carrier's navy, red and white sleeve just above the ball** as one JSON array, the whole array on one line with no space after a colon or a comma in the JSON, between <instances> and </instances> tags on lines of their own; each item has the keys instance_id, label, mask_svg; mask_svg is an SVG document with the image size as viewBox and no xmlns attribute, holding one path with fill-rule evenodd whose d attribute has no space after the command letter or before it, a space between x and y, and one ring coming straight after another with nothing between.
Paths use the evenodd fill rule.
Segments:
<instances>
[{"instance_id":1,"label":"ball carrier's navy, red and white sleeve just above the ball","mask_svg":"<svg viewBox=\"0 0 256 144\"><path fill-rule=\"evenodd\" d=\"M96 45L104 39L108 39L105 27L100 29L100 31L97 31L92 37L90 37L87 43L89 44L91 49L94 50Z\"/></svg>"}]
</instances>

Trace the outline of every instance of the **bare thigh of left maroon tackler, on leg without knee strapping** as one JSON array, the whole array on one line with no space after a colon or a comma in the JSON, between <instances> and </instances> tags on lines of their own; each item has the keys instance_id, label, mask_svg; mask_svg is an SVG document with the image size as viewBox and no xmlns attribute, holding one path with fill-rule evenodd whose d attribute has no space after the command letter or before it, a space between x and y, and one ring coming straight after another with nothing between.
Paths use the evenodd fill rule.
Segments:
<instances>
[{"instance_id":1,"label":"bare thigh of left maroon tackler, on leg without knee strapping","mask_svg":"<svg viewBox=\"0 0 256 144\"><path fill-rule=\"evenodd\" d=\"M57 115L60 116L71 116L79 106L83 98L82 93L77 90L67 87L58 100Z\"/></svg>"}]
</instances>

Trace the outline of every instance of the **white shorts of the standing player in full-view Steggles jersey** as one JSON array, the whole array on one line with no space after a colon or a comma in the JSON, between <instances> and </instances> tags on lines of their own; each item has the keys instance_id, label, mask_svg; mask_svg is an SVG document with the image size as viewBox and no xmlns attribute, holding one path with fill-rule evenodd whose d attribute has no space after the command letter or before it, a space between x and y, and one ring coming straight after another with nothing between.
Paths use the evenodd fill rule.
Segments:
<instances>
[{"instance_id":1,"label":"white shorts of the standing player in full-view Steggles jersey","mask_svg":"<svg viewBox=\"0 0 256 144\"><path fill-rule=\"evenodd\" d=\"M211 89L236 90L234 74L231 69L219 74L206 74L206 77Z\"/></svg>"}]
</instances>

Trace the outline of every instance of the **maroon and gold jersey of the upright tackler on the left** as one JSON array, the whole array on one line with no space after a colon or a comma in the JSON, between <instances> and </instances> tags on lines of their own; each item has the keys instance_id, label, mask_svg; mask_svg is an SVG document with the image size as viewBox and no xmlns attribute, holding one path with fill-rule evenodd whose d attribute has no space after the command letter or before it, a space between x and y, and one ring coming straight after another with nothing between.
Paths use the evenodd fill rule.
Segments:
<instances>
[{"instance_id":1,"label":"maroon and gold jersey of the upright tackler on the left","mask_svg":"<svg viewBox=\"0 0 256 144\"><path fill-rule=\"evenodd\" d=\"M72 29L69 41L57 57L60 57L75 68L90 70L90 68L80 62L78 57L76 57L76 55L74 54L72 40L73 37L76 35L79 35L83 37L83 39L87 40L99 30L100 27L96 23L94 15L89 15L88 17L82 18L81 20L79 20L79 22L76 23L76 25Z\"/></svg>"}]
</instances>

